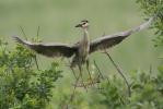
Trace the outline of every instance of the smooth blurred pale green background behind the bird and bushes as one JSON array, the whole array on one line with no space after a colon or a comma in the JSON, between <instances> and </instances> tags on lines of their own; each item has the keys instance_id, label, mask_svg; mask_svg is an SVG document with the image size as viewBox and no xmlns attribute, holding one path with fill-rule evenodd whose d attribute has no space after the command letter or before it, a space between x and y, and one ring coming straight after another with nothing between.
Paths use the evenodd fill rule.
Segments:
<instances>
[{"instance_id":1,"label":"smooth blurred pale green background behind the bird and bushes","mask_svg":"<svg viewBox=\"0 0 163 109\"><path fill-rule=\"evenodd\" d=\"M0 0L0 37L5 37L5 41L13 46L15 45L11 37L13 33L25 39L20 25L28 40L37 35L39 25L38 37L44 43L73 44L83 36L83 29L74 27L81 20L90 22L90 38L93 40L104 33L109 35L141 25L147 22L144 20L147 17L149 16L143 16L143 13L139 11L139 5L135 0ZM108 52L126 76L136 69L149 72L150 64L152 64L154 74L160 64L160 48L153 47L151 40L153 38L154 29L143 29L110 48ZM92 53L91 71L96 71L93 64L95 60L104 75L119 76L107 56L101 52ZM38 56L37 59L42 69L49 68L54 61L60 61L60 59L49 59L43 56ZM74 82L71 70L65 65L60 69L63 71L63 78L57 84L62 85L56 84L56 87L71 89L71 83ZM79 74L79 70L74 70ZM86 80L85 66L83 73Z\"/></svg>"}]
</instances>

